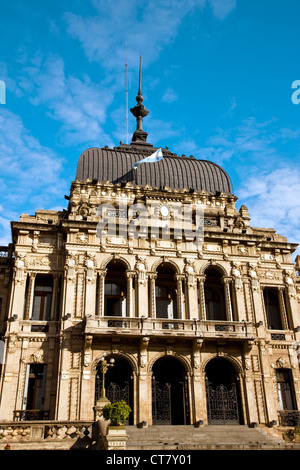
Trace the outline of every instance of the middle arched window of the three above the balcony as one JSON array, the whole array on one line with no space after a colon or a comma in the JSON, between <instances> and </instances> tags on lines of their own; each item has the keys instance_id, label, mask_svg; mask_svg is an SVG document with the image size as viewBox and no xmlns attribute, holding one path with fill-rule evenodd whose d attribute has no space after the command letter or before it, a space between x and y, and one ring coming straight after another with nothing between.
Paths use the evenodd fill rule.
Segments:
<instances>
[{"instance_id":1,"label":"middle arched window of the three above the balcony","mask_svg":"<svg viewBox=\"0 0 300 470\"><path fill-rule=\"evenodd\" d=\"M155 283L156 318L177 318L175 271L168 263L157 268Z\"/></svg>"}]
</instances>

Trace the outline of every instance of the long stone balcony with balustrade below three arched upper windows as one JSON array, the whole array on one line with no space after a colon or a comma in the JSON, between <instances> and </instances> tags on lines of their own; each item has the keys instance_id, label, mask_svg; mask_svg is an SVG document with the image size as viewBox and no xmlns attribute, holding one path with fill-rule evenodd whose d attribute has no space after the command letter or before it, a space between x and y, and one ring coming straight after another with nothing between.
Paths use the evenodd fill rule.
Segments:
<instances>
[{"instance_id":1,"label":"long stone balcony with balustrade below three arched upper windows","mask_svg":"<svg viewBox=\"0 0 300 470\"><path fill-rule=\"evenodd\" d=\"M174 336L183 338L249 340L253 323L245 321L170 320L162 318L96 317L86 319L86 334L120 336Z\"/></svg>"}]
</instances>

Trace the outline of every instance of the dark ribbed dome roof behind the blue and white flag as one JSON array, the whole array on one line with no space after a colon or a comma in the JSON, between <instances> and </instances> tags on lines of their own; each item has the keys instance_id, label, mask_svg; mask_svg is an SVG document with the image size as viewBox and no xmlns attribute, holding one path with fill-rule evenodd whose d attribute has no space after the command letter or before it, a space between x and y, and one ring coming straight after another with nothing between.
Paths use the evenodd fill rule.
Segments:
<instances>
[{"instance_id":1,"label":"dark ribbed dome roof behind the blue and white flag","mask_svg":"<svg viewBox=\"0 0 300 470\"><path fill-rule=\"evenodd\" d=\"M149 145L149 144L148 144ZM141 163L133 170L135 162L146 158L157 149L152 145L120 145L110 149L90 148L85 150L77 164L76 179L97 180L102 183L131 182L133 185L170 189L205 190L232 194L230 178L218 165L208 160L193 157L179 157L169 150L162 149L164 158L155 163Z\"/></svg>"}]
</instances>

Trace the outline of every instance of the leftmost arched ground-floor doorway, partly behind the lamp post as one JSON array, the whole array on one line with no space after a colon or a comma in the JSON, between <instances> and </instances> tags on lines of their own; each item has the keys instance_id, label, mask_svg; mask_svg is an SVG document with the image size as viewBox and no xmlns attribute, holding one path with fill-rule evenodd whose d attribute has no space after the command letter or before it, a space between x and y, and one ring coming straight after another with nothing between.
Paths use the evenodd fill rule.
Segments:
<instances>
[{"instance_id":1,"label":"leftmost arched ground-floor doorway, partly behind the lamp post","mask_svg":"<svg viewBox=\"0 0 300 470\"><path fill-rule=\"evenodd\" d=\"M125 400L132 410L128 418L128 424L133 424L133 375L131 365L125 358L120 356L109 355L105 358L108 363L111 358L114 359L113 367L108 367L105 374L104 386L106 397L111 403ZM101 361L99 362L96 373L96 402L101 395L102 389L102 373L100 366Z\"/></svg>"}]
</instances>

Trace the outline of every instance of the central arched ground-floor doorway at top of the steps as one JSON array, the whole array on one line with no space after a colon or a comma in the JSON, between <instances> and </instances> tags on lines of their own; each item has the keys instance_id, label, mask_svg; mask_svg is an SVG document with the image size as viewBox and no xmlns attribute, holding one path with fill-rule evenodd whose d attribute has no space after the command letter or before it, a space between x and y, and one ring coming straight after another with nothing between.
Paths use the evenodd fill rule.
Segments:
<instances>
[{"instance_id":1,"label":"central arched ground-floor doorway at top of the steps","mask_svg":"<svg viewBox=\"0 0 300 470\"><path fill-rule=\"evenodd\" d=\"M152 423L190 423L186 370L174 357L162 357L153 365Z\"/></svg>"}]
</instances>

